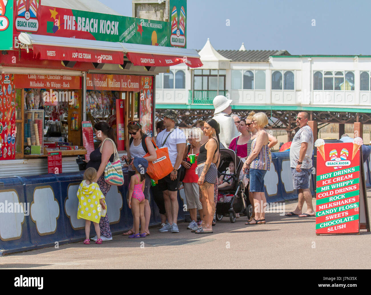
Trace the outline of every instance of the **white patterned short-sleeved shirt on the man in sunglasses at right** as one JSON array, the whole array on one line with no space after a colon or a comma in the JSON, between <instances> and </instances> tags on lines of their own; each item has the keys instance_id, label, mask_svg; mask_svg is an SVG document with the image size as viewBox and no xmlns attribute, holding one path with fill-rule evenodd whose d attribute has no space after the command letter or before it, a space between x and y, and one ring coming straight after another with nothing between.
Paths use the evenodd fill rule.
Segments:
<instances>
[{"instance_id":1,"label":"white patterned short-sleeved shirt on the man in sunglasses at right","mask_svg":"<svg viewBox=\"0 0 371 295\"><path fill-rule=\"evenodd\" d=\"M292 143L290 146L290 167L296 168L298 166L298 160L300 156L300 148L303 142L308 143L308 148L305 152L305 157L301 168L303 169L311 169L312 164L312 154L313 154L313 131L311 127L308 125L300 128L298 132L296 132L294 138L292 139Z\"/></svg>"}]
</instances>

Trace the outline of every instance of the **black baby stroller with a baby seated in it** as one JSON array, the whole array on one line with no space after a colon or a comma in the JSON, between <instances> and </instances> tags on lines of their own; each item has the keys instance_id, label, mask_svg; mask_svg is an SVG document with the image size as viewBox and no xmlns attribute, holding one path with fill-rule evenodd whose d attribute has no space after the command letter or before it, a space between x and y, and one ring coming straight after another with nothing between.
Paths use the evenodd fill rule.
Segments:
<instances>
[{"instance_id":1,"label":"black baby stroller with a baby seated in it","mask_svg":"<svg viewBox=\"0 0 371 295\"><path fill-rule=\"evenodd\" d=\"M252 205L249 202L249 198L245 195L245 187L242 180L239 180L239 176L242 170L243 162L237 157L236 153L230 149L220 149L220 164L218 171L224 171L229 166L229 163L233 161L235 166L235 172L233 174L220 173L220 175L227 175L226 177L232 177L233 183L226 188L221 188L218 192L233 195L230 202L217 202L216 203L216 220L221 221L223 216L229 216L230 222L236 221L236 213L242 212L248 218L252 214ZM245 177L245 175L243 175Z\"/></svg>"}]
</instances>

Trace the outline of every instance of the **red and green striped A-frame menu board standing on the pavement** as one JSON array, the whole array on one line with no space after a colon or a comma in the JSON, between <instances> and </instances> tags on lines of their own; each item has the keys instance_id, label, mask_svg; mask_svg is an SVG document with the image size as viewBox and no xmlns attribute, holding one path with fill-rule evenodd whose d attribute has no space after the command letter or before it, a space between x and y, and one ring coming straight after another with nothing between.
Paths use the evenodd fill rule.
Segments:
<instances>
[{"instance_id":1,"label":"red and green striped A-frame menu board standing on the pavement","mask_svg":"<svg viewBox=\"0 0 371 295\"><path fill-rule=\"evenodd\" d=\"M359 232L359 191L363 181L359 147L354 143L317 145L317 234Z\"/></svg>"}]
</instances>

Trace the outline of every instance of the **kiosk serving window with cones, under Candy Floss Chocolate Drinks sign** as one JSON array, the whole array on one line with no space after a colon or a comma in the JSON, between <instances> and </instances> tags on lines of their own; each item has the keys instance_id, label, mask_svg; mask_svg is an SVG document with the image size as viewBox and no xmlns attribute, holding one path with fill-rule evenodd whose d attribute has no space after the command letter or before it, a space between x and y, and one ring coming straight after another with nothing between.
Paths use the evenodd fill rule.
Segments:
<instances>
[{"instance_id":1,"label":"kiosk serving window with cones, under Candy Floss Chocolate Drinks sign","mask_svg":"<svg viewBox=\"0 0 371 295\"><path fill-rule=\"evenodd\" d=\"M13 76L16 158L40 156L58 145L81 146L81 77Z\"/></svg>"}]
</instances>

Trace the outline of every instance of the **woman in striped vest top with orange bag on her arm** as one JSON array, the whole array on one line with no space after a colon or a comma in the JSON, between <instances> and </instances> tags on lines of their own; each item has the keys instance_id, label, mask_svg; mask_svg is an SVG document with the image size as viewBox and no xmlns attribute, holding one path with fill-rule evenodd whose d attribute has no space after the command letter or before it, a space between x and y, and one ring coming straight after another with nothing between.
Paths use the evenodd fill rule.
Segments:
<instances>
[{"instance_id":1,"label":"woman in striped vest top with orange bag on her arm","mask_svg":"<svg viewBox=\"0 0 371 295\"><path fill-rule=\"evenodd\" d=\"M128 179L131 178L135 174L135 171L132 169L132 159L134 157L144 158L148 162L154 161L157 159L156 150L151 142L150 137L144 134L142 131L142 126L137 121L131 121L128 124L128 132L132 137L132 142L130 143L128 155L122 156L121 160L127 160L129 162L129 165L124 164L125 167L128 167ZM145 146L143 146L143 137ZM150 153L150 156L144 157L148 153ZM139 171L140 173L140 171ZM145 217L145 233L147 236L150 234L150 230L148 229L148 226L150 225L150 217L151 217L151 208L150 208L150 187L151 187L151 178L150 176L145 173L145 184L144 184L144 217ZM124 236L132 235L134 233L134 225L133 228L130 229L128 232L123 233Z\"/></svg>"}]
</instances>

